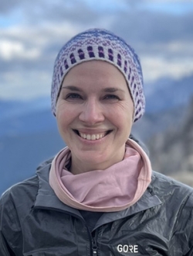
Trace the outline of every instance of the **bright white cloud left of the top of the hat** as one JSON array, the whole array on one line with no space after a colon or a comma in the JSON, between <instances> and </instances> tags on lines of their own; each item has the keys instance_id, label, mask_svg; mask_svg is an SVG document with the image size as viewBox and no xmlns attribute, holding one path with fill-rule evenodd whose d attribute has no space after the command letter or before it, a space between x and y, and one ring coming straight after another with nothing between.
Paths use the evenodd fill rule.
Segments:
<instances>
[{"instance_id":1,"label":"bright white cloud left of the top of the hat","mask_svg":"<svg viewBox=\"0 0 193 256\"><path fill-rule=\"evenodd\" d=\"M61 29L61 26L63 29ZM0 59L35 60L50 43L63 41L78 33L79 27L70 22L62 22L60 26L54 23L43 23L39 27L11 26L0 29Z\"/></svg>"}]
</instances>

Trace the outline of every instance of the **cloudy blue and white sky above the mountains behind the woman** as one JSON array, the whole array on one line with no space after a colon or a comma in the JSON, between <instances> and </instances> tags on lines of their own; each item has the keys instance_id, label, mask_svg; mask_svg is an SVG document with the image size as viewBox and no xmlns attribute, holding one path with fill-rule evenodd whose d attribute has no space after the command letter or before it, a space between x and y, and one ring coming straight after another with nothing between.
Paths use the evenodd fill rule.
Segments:
<instances>
[{"instance_id":1,"label":"cloudy blue and white sky above the mountains behind the woman","mask_svg":"<svg viewBox=\"0 0 193 256\"><path fill-rule=\"evenodd\" d=\"M134 47L147 89L193 74L193 0L1 0L0 99L49 96L59 49L93 27Z\"/></svg>"}]
</instances>

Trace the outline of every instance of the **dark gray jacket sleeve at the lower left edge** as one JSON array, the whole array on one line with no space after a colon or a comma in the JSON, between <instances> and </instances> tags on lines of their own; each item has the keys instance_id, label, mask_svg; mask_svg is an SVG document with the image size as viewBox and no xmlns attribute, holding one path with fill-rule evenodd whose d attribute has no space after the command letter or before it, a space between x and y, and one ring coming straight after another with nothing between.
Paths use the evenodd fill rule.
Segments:
<instances>
[{"instance_id":1,"label":"dark gray jacket sleeve at the lower left edge","mask_svg":"<svg viewBox=\"0 0 193 256\"><path fill-rule=\"evenodd\" d=\"M19 219L11 193L5 192L0 199L0 255L22 255L19 248L21 232Z\"/></svg>"}]
</instances>

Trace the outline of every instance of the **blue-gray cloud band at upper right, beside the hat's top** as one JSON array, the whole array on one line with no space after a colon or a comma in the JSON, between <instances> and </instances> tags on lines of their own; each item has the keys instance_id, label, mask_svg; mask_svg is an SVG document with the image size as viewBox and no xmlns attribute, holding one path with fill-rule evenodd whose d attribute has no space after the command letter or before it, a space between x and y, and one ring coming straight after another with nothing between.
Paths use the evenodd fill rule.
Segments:
<instances>
[{"instance_id":1,"label":"blue-gray cloud band at upper right, beside the hat's top","mask_svg":"<svg viewBox=\"0 0 193 256\"><path fill-rule=\"evenodd\" d=\"M193 40L192 12L185 16L168 13L125 10L117 14L112 28L133 43L160 43L173 40Z\"/></svg>"}]
</instances>

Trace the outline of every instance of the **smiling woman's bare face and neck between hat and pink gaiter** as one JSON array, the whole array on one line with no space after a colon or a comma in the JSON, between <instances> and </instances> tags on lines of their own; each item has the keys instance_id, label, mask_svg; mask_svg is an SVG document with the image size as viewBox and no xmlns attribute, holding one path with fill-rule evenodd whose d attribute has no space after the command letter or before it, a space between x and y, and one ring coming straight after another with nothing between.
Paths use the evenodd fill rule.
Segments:
<instances>
[{"instance_id":1,"label":"smiling woman's bare face and neck between hat and pink gaiter","mask_svg":"<svg viewBox=\"0 0 193 256\"><path fill-rule=\"evenodd\" d=\"M117 67L86 61L66 74L56 119L76 164L103 169L121 161L133 116L127 82Z\"/></svg>"}]
</instances>

